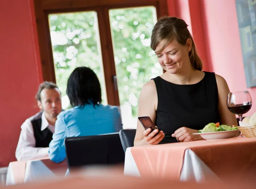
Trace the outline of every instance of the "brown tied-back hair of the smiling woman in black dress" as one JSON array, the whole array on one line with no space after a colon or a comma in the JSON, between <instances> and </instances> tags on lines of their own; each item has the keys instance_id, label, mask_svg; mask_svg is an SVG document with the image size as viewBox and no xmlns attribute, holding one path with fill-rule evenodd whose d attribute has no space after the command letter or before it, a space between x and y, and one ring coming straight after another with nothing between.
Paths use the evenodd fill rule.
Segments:
<instances>
[{"instance_id":1,"label":"brown tied-back hair of the smiling woman in black dress","mask_svg":"<svg viewBox=\"0 0 256 189\"><path fill-rule=\"evenodd\" d=\"M187 24L184 20L177 17L162 17L154 26L151 35L151 49L155 50L157 45L163 41L163 47L160 52L173 40L176 39L181 45L186 45L186 40L189 38L192 40L192 48L189 51L189 59L191 66L195 70L202 70L202 60L198 56L194 40L187 29Z\"/></svg>"}]
</instances>

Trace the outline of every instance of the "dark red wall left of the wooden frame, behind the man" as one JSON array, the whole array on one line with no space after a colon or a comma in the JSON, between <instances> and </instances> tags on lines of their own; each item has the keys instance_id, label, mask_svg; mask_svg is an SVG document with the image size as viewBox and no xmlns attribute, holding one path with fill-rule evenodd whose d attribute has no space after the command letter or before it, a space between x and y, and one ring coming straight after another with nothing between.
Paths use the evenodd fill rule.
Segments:
<instances>
[{"instance_id":1,"label":"dark red wall left of the wooden frame, behind the man","mask_svg":"<svg viewBox=\"0 0 256 189\"><path fill-rule=\"evenodd\" d=\"M15 159L20 125L38 111L32 12L28 0L0 0L0 167Z\"/></svg>"}]
</instances>

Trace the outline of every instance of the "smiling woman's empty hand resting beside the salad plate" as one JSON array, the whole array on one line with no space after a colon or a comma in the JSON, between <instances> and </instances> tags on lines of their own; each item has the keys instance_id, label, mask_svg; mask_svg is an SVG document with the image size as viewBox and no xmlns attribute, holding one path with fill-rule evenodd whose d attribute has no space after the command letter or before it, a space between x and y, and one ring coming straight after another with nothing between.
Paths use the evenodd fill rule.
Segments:
<instances>
[{"instance_id":1,"label":"smiling woman's empty hand resting beside the salad plate","mask_svg":"<svg viewBox=\"0 0 256 189\"><path fill-rule=\"evenodd\" d=\"M177 141L179 142L189 142L189 141L195 141L195 140L204 140L200 135L193 134L198 133L198 130L182 127L177 129L174 134L172 134L172 137L176 137Z\"/></svg>"}]
</instances>

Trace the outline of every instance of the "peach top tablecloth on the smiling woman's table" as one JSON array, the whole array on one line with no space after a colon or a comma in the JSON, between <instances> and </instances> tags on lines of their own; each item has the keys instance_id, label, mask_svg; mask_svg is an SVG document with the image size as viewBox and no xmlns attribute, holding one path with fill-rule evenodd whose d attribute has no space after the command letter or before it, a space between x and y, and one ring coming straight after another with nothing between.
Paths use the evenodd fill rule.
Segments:
<instances>
[{"instance_id":1,"label":"peach top tablecloth on the smiling woman's table","mask_svg":"<svg viewBox=\"0 0 256 189\"><path fill-rule=\"evenodd\" d=\"M256 139L201 140L131 148L140 175L180 179L186 149L195 154L219 177L256 171Z\"/></svg>"}]
</instances>

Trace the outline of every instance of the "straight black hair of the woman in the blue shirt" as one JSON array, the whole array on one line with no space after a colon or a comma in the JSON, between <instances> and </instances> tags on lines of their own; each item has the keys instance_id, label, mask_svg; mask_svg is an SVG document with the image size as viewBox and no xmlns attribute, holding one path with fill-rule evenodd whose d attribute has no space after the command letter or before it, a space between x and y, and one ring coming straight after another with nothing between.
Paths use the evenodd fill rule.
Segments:
<instances>
[{"instance_id":1,"label":"straight black hair of the woman in the blue shirt","mask_svg":"<svg viewBox=\"0 0 256 189\"><path fill-rule=\"evenodd\" d=\"M77 67L67 80L67 96L72 107L99 105L102 102L101 88L93 70L88 67Z\"/></svg>"}]
</instances>

